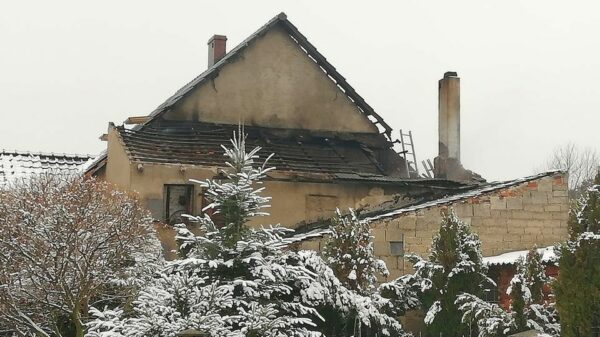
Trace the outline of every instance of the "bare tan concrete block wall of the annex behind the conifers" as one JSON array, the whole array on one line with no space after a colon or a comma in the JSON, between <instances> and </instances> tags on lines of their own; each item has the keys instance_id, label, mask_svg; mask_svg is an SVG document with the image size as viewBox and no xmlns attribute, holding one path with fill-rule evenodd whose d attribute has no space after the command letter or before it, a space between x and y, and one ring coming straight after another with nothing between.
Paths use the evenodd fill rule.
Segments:
<instances>
[{"instance_id":1,"label":"bare tan concrete block wall of the annex behind the conifers","mask_svg":"<svg viewBox=\"0 0 600 337\"><path fill-rule=\"evenodd\" d=\"M404 251L423 257L439 230L442 209L452 207L479 235L484 256L549 246L567 238L569 201L563 174L542 177L517 186L488 192L427 209L372 222L375 254L384 260L394 279L412 272L402 256L391 254L390 242L402 240Z\"/></svg>"}]
</instances>

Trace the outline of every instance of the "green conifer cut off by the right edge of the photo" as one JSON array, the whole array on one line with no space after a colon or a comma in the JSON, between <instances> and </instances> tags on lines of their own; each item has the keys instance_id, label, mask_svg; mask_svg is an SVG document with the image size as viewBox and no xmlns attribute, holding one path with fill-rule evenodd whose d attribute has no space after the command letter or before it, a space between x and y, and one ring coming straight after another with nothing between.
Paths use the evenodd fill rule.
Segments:
<instances>
[{"instance_id":1,"label":"green conifer cut off by the right edge of the photo","mask_svg":"<svg viewBox=\"0 0 600 337\"><path fill-rule=\"evenodd\" d=\"M561 333L593 336L600 331L600 174L571 210L569 229L553 284Z\"/></svg>"}]
</instances>

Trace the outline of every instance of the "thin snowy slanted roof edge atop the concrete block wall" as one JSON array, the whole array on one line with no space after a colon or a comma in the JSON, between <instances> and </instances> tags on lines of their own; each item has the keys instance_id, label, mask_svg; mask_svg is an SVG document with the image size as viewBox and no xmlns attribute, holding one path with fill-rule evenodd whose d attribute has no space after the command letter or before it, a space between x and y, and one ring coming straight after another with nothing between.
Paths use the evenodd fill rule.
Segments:
<instances>
[{"instance_id":1,"label":"thin snowy slanted roof edge atop the concrete block wall","mask_svg":"<svg viewBox=\"0 0 600 337\"><path fill-rule=\"evenodd\" d=\"M446 198L435 199L435 200L423 202L423 203L416 204L416 205L410 205L410 206L403 207L403 208L393 209L393 210L390 210L389 212L384 212L382 214L379 214L379 215L376 215L373 217L369 217L366 220L373 221L373 220L378 220L378 219L391 218L394 216L402 215L402 214L405 214L408 212L417 211L420 209L425 209L425 208L444 205L444 204L450 204L450 203L453 203L456 201L461 201L464 199L478 197L478 196L481 196L486 193L496 192L496 191L499 191L499 190L502 190L505 188L520 185L522 183L527 183L532 180L538 180L538 179L541 179L544 177L553 176L558 173L563 173L563 171L552 170L552 171L539 173L539 174L528 176L528 177L515 179L515 180L508 180L508 181L502 181L502 182L491 182L489 184L482 185L482 187L480 187L480 188L476 188L476 189L470 190L468 192L459 193L459 194L455 194L455 195L452 195L452 196L449 196Z\"/></svg>"}]
</instances>

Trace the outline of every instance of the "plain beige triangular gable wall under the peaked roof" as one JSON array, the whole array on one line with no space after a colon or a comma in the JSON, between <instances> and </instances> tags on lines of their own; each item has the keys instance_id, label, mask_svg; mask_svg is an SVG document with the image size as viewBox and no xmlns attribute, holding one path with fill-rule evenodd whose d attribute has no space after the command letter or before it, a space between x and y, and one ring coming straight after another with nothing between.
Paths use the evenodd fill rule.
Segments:
<instances>
[{"instance_id":1,"label":"plain beige triangular gable wall under the peaked roof","mask_svg":"<svg viewBox=\"0 0 600 337\"><path fill-rule=\"evenodd\" d=\"M378 132L282 28L272 28L229 62L165 118Z\"/></svg>"}]
</instances>

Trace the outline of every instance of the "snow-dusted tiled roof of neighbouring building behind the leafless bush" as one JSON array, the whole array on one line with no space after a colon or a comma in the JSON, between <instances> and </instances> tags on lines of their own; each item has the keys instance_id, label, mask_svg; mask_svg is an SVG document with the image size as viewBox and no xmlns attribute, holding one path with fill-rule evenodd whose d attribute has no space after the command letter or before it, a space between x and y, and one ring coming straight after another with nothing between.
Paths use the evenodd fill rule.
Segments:
<instances>
[{"instance_id":1,"label":"snow-dusted tiled roof of neighbouring building behind the leafless bush","mask_svg":"<svg viewBox=\"0 0 600 337\"><path fill-rule=\"evenodd\" d=\"M82 172L90 155L0 151L0 188L45 172Z\"/></svg>"}]
</instances>

